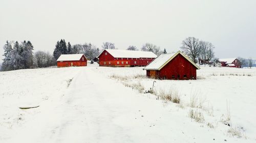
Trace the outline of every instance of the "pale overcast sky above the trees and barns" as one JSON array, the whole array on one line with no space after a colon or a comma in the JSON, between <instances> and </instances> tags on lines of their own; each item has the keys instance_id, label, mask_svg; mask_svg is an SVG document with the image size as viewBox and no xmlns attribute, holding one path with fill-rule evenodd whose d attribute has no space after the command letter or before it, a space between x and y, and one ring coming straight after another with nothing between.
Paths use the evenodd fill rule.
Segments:
<instances>
[{"instance_id":1,"label":"pale overcast sky above the trees and barns","mask_svg":"<svg viewBox=\"0 0 256 143\"><path fill-rule=\"evenodd\" d=\"M60 39L118 49L150 42L172 52L186 37L211 42L219 58L256 58L255 0L1 0L0 20L1 59L6 40L51 53Z\"/></svg>"}]
</instances>

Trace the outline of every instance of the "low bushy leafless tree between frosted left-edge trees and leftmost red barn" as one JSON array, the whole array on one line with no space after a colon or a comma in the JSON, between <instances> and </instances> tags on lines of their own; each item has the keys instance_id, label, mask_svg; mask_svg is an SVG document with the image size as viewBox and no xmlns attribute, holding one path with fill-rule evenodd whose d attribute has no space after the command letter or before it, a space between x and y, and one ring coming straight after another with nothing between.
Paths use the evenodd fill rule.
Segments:
<instances>
[{"instance_id":1,"label":"low bushy leafless tree between frosted left-edge trees and leftmost red barn","mask_svg":"<svg viewBox=\"0 0 256 143\"><path fill-rule=\"evenodd\" d=\"M49 52L37 51L34 54L34 65L38 68L55 66L56 60Z\"/></svg>"}]
</instances>

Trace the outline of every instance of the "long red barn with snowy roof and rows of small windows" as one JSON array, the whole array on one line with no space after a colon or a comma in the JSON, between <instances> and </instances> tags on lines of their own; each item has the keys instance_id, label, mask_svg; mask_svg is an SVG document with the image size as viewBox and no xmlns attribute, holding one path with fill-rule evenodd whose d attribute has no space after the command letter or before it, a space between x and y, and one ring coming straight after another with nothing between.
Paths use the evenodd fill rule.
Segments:
<instances>
[{"instance_id":1,"label":"long red barn with snowy roof and rows of small windows","mask_svg":"<svg viewBox=\"0 0 256 143\"><path fill-rule=\"evenodd\" d=\"M151 51L105 49L99 58L99 66L135 67L146 66L157 57Z\"/></svg>"}]
</instances>

